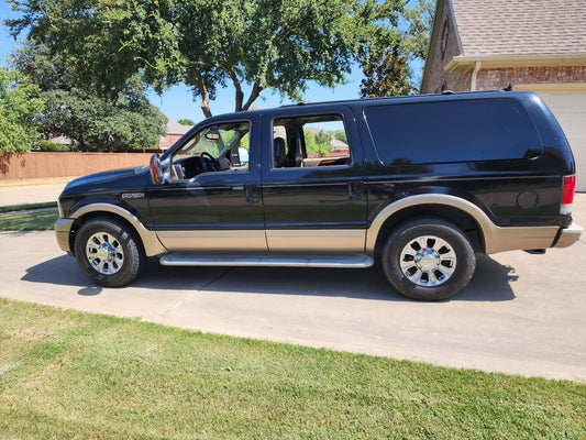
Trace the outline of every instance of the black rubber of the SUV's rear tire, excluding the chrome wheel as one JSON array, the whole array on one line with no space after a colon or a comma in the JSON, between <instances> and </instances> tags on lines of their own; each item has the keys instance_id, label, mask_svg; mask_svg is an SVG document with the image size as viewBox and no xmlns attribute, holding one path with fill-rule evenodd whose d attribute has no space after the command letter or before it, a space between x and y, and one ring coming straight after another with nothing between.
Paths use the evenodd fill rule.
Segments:
<instances>
[{"instance_id":1,"label":"black rubber of the SUV's rear tire, excluding the chrome wheel","mask_svg":"<svg viewBox=\"0 0 586 440\"><path fill-rule=\"evenodd\" d=\"M405 276L400 257L405 246L422 235L438 237L452 248L456 255L456 268L450 279L433 286L419 286ZM383 268L390 284L401 294L421 300L445 299L466 286L474 274L476 257L465 234L454 224L436 220L417 220L401 224L390 234L383 253Z\"/></svg>"}]
</instances>

